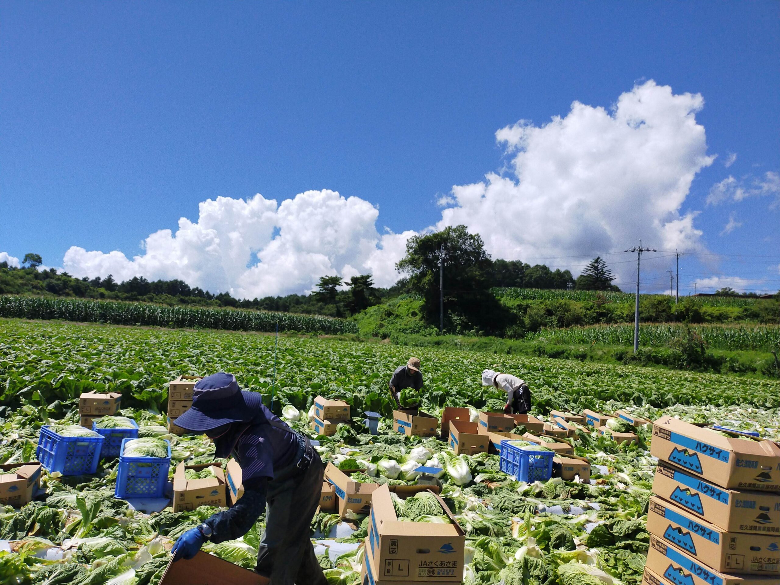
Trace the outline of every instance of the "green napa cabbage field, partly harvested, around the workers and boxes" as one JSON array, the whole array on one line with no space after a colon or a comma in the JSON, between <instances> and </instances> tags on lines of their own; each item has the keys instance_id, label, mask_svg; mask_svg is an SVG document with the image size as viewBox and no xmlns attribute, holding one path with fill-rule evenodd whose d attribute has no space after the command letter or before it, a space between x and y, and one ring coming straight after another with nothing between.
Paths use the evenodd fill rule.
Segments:
<instances>
[{"instance_id":1,"label":"green napa cabbage field, partly harvested, around the workers and boxes","mask_svg":"<svg viewBox=\"0 0 780 585\"><path fill-rule=\"evenodd\" d=\"M490 367L526 380L532 413L541 418L552 409L626 408L649 419L667 413L780 438L777 381L316 337L277 343L256 333L0 320L0 463L34 460L41 426L77 424L77 398L87 391L121 392L119 415L135 420L141 436L167 438L172 468L179 461L211 462L213 445L203 435L167 434L167 383L179 374L228 371L312 438L316 395L349 402L351 423L318 437L317 449L336 465L360 463L365 471L357 480L413 483L417 466L440 467L441 495L466 533L464 583L638 585L655 467L649 431L638 432L636 445L618 445L580 429L570 440L576 454L590 459L591 480L525 484L502 473L495 455L456 456L438 438L393 430L386 384L410 355L422 363L422 408L434 415L443 406L500 410L502 394L480 383L480 372ZM378 435L365 432L364 410L385 417ZM158 583L176 537L215 512L206 506L138 512L114 498L115 482L115 460L101 461L94 476L44 472L45 493L36 501L0 507L0 583ZM263 522L238 541L204 550L253 568ZM359 583L367 518L340 521L322 512L311 534L328 583Z\"/></svg>"}]
</instances>

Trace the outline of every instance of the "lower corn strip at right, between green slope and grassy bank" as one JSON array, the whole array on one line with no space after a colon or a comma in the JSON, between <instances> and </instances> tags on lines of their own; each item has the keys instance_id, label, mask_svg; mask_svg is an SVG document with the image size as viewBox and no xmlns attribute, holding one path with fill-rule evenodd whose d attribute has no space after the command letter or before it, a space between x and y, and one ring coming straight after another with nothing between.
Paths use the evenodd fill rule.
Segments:
<instances>
[{"instance_id":1,"label":"lower corn strip at right, between green slope and grassy bank","mask_svg":"<svg viewBox=\"0 0 780 585\"><path fill-rule=\"evenodd\" d=\"M661 323L641 325L640 345L666 346L685 325ZM778 325L691 325L711 349L743 349L771 351L780 349ZM530 341L544 341L560 345L597 343L605 346L632 346L633 324L590 325L568 329L542 329L526 336Z\"/></svg>"}]
</instances>

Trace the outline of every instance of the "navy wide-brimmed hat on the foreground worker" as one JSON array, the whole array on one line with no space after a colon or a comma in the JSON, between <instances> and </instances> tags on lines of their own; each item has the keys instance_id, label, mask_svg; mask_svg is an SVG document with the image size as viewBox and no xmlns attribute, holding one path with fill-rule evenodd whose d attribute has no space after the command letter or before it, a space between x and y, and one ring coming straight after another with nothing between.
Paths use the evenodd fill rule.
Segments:
<instances>
[{"instance_id":1,"label":"navy wide-brimmed hat on the foreground worker","mask_svg":"<svg viewBox=\"0 0 780 585\"><path fill-rule=\"evenodd\" d=\"M239 388L233 374L211 374L197 381L193 406L176 419L176 426L188 431L209 431L223 424L252 420L263 403L259 392Z\"/></svg>"}]
</instances>

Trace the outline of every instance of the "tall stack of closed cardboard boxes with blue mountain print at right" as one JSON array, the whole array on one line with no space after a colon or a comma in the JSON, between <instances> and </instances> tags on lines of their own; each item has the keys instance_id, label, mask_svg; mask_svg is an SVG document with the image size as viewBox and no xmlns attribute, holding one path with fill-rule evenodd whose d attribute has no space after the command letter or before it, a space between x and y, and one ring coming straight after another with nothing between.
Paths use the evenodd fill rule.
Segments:
<instances>
[{"instance_id":1,"label":"tall stack of closed cardboard boxes with blue mountain print at right","mask_svg":"<svg viewBox=\"0 0 780 585\"><path fill-rule=\"evenodd\" d=\"M642 583L778 585L780 446L661 417Z\"/></svg>"}]
</instances>

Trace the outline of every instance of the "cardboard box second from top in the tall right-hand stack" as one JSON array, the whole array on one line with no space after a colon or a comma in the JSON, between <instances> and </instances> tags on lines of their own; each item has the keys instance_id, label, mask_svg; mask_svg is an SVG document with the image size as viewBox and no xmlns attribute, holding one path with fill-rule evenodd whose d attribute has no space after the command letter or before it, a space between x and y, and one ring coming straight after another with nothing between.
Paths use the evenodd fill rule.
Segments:
<instances>
[{"instance_id":1,"label":"cardboard box second from top in the tall right-hand stack","mask_svg":"<svg viewBox=\"0 0 780 585\"><path fill-rule=\"evenodd\" d=\"M728 532L780 536L780 496L733 491L659 461L653 493Z\"/></svg>"}]
</instances>

